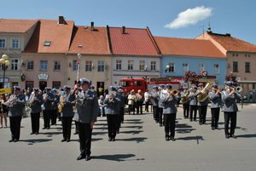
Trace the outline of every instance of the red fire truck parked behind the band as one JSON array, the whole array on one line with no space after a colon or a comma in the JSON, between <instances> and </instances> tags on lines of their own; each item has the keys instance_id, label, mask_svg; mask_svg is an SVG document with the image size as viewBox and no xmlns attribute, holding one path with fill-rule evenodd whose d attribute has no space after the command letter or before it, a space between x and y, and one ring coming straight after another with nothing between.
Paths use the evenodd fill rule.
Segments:
<instances>
[{"instance_id":1,"label":"red fire truck parked behind the band","mask_svg":"<svg viewBox=\"0 0 256 171\"><path fill-rule=\"evenodd\" d=\"M148 77L147 80L143 77L140 78L123 78L120 80L120 85L123 87L125 94L129 94L132 89L140 89L145 93L145 90L152 89L153 86L159 86L159 84L172 84L172 88L179 89L180 83L173 82L170 77Z\"/></svg>"}]
</instances>

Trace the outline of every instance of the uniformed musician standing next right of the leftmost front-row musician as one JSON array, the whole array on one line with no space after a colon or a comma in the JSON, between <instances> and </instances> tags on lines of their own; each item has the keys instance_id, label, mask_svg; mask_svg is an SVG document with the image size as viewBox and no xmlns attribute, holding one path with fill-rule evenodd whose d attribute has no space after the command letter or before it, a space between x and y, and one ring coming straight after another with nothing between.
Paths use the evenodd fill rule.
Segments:
<instances>
[{"instance_id":1,"label":"uniformed musician standing next right of the leftmost front-row musician","mask_svg":"<svg viewBox=\"0 0 256 171\"><path fill-rule=\"evenodd\" d=\"M40 112L42 111L41 105L43 104L43 95L39 94L39 88L33 88L33 92L29 98L29 104L31 105L31 123L32 133L39 133L40 124Z\"/></svg>"}]
</instances>

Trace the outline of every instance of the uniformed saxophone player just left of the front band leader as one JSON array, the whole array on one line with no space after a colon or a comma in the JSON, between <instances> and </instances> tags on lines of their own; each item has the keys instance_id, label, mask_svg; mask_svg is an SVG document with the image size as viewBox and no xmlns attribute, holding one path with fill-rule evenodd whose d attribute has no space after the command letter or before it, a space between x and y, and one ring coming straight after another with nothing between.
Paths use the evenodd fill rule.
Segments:
<instances>
[{"instance_id":1,"label":"uniformed saxophone player just left of the front band leader","mask_svg":"<svg viewBox=\"0 0 256 171\"><path fill-rule=\"evenodd\" d=\"M71 91L70 86L64 86L64 94L61 95L59 110L61 110L61 123L63 140L61 142L70 141L71 127L73 120L73 106L75 105L75 95Z\"/></svg>"}]
</instances>

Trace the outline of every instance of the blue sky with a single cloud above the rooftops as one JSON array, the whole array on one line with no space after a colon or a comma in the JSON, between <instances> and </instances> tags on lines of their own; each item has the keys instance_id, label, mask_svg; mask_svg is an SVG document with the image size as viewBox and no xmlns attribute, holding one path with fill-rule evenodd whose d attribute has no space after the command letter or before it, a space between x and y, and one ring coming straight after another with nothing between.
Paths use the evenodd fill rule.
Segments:
<instances>
[{"instance_id":1,"label":"blue sky with a single cloud above the rooftops","mask_svg":"<svg viewBox=\"0 0 256 171\"><path fill-rule=\"evenodd\" d=\"M256 44L255 0L9 0L0 18L53 19L77 26L149 27L154 36L194 38L207 31L230 33Z\"/></svg>"}]
</instances>

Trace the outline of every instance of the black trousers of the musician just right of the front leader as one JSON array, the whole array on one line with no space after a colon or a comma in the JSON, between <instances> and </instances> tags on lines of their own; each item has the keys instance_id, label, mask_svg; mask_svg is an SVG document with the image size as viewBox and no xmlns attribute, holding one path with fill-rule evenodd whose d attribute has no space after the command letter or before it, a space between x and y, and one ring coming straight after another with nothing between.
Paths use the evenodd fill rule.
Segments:
<instances>
[{"instance_id":1,"label":"black trousers of the musician just right of the front leader","mask_svg":"<svg viewBox=\"0 0 256 171\"><path fill-rule=\"evenodd\" d=\"M108 138L114 139L118 128L119 115L107 115L108 121Z\"/></svg>"}]
</instances>

